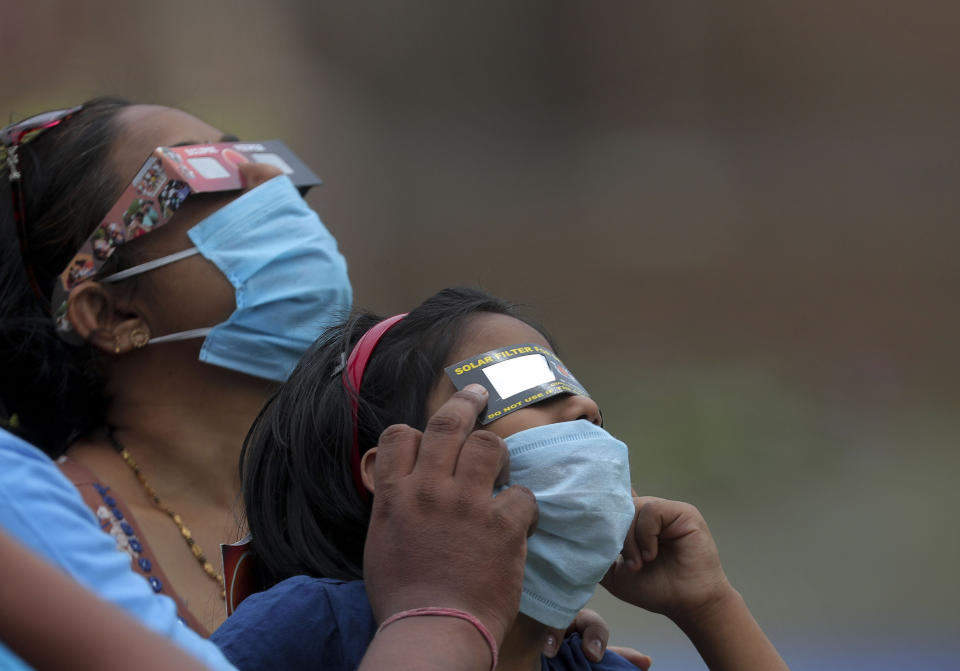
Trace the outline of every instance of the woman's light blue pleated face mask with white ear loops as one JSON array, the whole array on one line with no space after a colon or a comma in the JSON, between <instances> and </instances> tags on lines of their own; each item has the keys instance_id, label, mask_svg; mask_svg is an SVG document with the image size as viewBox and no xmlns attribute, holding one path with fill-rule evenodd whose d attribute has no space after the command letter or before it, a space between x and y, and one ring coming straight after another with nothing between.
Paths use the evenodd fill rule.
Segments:
<instances>
[{"instance_id":1,"label":"woman's light blue pleated face mask with white ear loops","mask_svg":"<svg viewBox=\"0 0 960 671\"><path fill-rule=\"evenodd\" d=\"M282 382L323 329L350 309L353 293L337 241L285 176L247 191L187 234L195 248L101 281L201 254L233 285L237 307L222 324L148 344L205 337L201 361Z\"/></svg>"}]
</instances>

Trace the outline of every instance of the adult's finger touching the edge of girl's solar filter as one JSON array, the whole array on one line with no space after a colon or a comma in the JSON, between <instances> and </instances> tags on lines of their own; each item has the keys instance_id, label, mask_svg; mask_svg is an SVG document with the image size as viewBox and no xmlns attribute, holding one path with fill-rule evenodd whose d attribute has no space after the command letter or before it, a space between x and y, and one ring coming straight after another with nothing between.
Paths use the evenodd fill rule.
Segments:
<instances>
[{"instance_id":1,"label":"adult's finger touching the edge of girl's solar filter","mask_svg":"<svg viewBox=\"0 0 960 671\"><path fill-rule=\"evenodd\" d=\"M473 431L488 396L482 386L471 384L447 399L427 421L417 467L425 467L438 475L452 475L460 448Z\"/></svg>"}]
</instances>

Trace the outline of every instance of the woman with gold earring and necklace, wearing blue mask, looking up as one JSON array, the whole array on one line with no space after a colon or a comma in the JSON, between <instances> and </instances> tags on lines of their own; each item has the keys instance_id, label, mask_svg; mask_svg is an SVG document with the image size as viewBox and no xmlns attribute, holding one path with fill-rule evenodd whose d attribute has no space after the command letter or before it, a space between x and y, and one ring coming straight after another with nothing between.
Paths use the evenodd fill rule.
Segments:
<instances>
[{"instance_id":1,"label":"woman with gold earring and necklace, wearing blue mask, looking up","mask_svg":"<svg viewBox=\"0 0 960 671\"><path fill-rule=\"evenodd\" d=\"M278 177L279 168L244 164L238 168L242 191L191 196L169 223L117 247L95 277L77 284L60 320L72 332L71 341L65 340L51 316L54 285L76 265L78 249L150 152L230 139L166 107L98 99L68 112L4 132L5 424L51 456L65 457L64 472L135 568L156 591L174 597L185 621L206 633L224 618L222 576L212 553L241 530L235 465L243 436L273 384L329 316L349 308L346 263L316 214L289 180ZM271 199L288 208L279 223ZM245 230L262 224L289 238L292 221L297 230L315 234L296 263L285 251L259 260L273 273L266 283L286 289L283 296L269 296L272 311L258 303L262 287L251 286L256 278L228 279L217 257L223 240L191 239L191 230L197 229L196 238L204 232L198 224L210 223L214 214L220 221L212 223L223 230L233 221ZM203 249L133 277L103 281L194 246ZM251 317L255 310L260 312ZM233 333L219 333L226 354L208 351L213 332L154 342L227 323ZM237 327L246 330L234 337Z\"/></svg>"}]
</instances>

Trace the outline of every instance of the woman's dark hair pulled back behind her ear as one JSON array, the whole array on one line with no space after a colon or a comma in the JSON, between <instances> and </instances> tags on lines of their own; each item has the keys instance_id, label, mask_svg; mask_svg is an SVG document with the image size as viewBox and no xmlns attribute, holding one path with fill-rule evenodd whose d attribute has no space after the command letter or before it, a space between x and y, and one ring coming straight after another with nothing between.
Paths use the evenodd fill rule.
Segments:
<instances>
[{"instance_id":1,"label":"woman's dark hair pulled back behind her ear","mask_svg":"<svg viewBox=\"0 0 960 671\"><path fill-rule=\"evenodd\" d=\"M108 158L117 112L128 104L91 100L20 146L28 258L20 251L7 169L0 167L0 426L51 456L103 424L99 354L56 334L49 301L56 276L123 191L125 176L111 171ZM45 300L32 289L27 264Z\"/></svg>"}]
</instances>

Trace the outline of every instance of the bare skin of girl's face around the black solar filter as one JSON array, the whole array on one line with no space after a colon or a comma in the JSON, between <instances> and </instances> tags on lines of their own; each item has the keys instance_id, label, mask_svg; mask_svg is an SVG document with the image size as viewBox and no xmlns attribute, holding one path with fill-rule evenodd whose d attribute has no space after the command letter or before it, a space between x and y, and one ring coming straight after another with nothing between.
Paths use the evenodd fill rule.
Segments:
<instances>
[{"instance_id":1,"label":"bare skin of girl's face around the black solar filter","mask_svg":"<svg viewBox=\"0 0 960 671\"><path fill-rule=\"evenodd\" d=\"M450 353L450 358L444 366L463 361L475 354L521 343L534 343L550 349L547 339L539 331L508 315L478 312L467 318L463 333L462 341ZM450 378L441 374L427 400L427 417L433 415L455 391L456 388ZM559 396L516 410L483 428L493 431L501 438L506 438L518 431L532 429L535 426L569 422L575 419L586 419L599 425L601 423L600 408L586 396Z\"/></svg>"}]
</instances>

